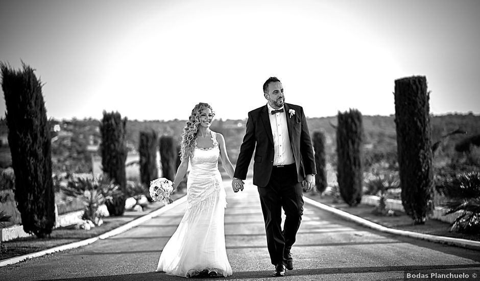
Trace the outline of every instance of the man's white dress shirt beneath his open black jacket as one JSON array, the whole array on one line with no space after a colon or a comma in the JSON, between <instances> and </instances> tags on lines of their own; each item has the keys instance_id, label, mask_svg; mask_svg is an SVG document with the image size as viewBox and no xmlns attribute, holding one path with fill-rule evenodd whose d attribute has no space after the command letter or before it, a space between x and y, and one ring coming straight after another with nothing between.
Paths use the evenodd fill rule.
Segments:
<instances>
[{"instance_id":1,"label":"man's white dress shirt beneath his open black jacket","mask_svg":"<svg viewBox=\"0 0 480 281\"><path fill-rule=\"evenodd\" d=\"M289 165L295 163L293 157L292 145L290 144L289 128L286 125L286 113L283 106L283 112L272 114L272 108L268 103L268 113L270 118L270 127L272 127L273 145L275 147L275 156L273 166Z\"/></svg>"}]
</instances>

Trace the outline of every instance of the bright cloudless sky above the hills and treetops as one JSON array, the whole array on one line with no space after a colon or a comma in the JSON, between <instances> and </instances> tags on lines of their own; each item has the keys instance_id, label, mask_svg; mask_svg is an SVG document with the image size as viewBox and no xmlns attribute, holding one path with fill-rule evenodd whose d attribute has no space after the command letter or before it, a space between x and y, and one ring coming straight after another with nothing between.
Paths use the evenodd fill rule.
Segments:
<instances>
[{"instance_id":1,"label":"bright cloudless sky above the hills and treetops","mask_svg":"<svg viewBox=\"0 0 480 281\"><path fill-rule=\"evenodd\" d=\"M476 0L0 0L0 61L36 69L55 119L245 119L270 76L309 117L393 114L412 75L431 113L478 114L479 47Z\"/></svg>"}]
</instances>

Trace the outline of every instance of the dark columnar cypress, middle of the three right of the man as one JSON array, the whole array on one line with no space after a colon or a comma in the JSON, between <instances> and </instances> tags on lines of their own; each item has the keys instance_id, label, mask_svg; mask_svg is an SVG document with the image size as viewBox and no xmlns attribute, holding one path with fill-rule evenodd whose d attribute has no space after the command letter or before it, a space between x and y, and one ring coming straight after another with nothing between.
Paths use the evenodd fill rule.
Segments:
<instances>
[{"instance_id":1,"label":"dark columnar cypress, middle of the three right of the man","mask_svg":"<svg viewBox=\"0 0 480 281\"><path fill-rule=\"evenodd\" d=\"M356 109L338 113L337 155L340 195L350 206L362 200L362 114Z\"/></svg>"}]
</instances>

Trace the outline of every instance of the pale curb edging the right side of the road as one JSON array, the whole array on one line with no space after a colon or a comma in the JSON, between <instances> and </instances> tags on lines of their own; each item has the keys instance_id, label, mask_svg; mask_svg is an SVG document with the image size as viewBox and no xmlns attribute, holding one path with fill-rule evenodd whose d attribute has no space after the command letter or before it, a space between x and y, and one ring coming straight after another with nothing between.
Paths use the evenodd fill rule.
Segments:
<instances>
[{"instance_id":1,"label":"pale curb edging the right side of the road","mask_svg":"<svg viewBox=\"0 0 480 281\"><path fill-rule=\"evenodd\" d=\"M372 229L375 229L375 230L378 230L378 231L391 233L391 234L394 234L394 235L400 235L400 236L420 239L420 240L426 240L426 241L440 243L440 244L453 245L453 246L458 246L458 247L463 247L463 248L468 248L468 249L473 249L473 250L480 250L480 241L472 241L472 240L467 240L467 239L451 238L451 237L445 237L445 236L437 236L437 235L430 235L430 234L418 233L418 232L413 232L413 231L389 228L389 227L386 227L386 226L376 224L376 223L371 222L369 220L363 219L361 217L357 217L355 215L349 214L347 212L344 212L343 210L340 210L340 209L337 209L337 208L334 208L334 207L330 207L330 206L325 205L323 203L317 202L317 201L315 201L313 199L310 199L306 196L303 197L303 200L310 205L314 205L318 208L326 210L327 212L333 213L333 214L335 214L335 215L337 215L337 216L339 216L343 219L355 222L355 223L360 224L362 226L366 226L366 227L369 227L369 228L372 228Z\"/></svg>"}]
</instances>

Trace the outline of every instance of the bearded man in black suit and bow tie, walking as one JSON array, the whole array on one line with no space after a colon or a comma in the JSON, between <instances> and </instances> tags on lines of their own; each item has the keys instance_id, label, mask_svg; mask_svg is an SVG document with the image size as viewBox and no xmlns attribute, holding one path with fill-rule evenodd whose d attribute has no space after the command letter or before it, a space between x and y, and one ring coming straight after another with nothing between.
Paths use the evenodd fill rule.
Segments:
<instances>
[{"instance_id":1,"label":"bearded man in black suit and bow tie, walking","mask_svg":"<svg viewBox=\"0 0 480 281\"><path fill-rule=\"evenodd\" d=\"M315 158L303 108L285 103L276 77L263 84L267 105L248 113L247 130L236 163L232 188L243 190L252 159L253 184L258 186L274 276L293 269L290 253L303 215L303 186L315 184ZM283 230L282 208L285 212Z\"/></svg>"}]
</instances>

